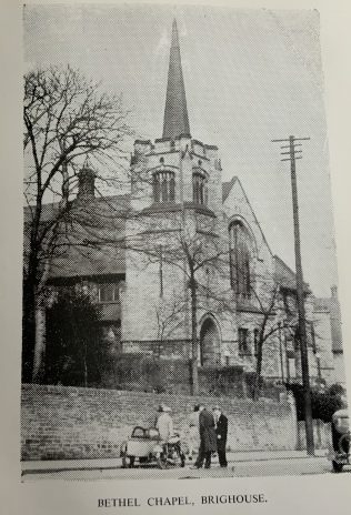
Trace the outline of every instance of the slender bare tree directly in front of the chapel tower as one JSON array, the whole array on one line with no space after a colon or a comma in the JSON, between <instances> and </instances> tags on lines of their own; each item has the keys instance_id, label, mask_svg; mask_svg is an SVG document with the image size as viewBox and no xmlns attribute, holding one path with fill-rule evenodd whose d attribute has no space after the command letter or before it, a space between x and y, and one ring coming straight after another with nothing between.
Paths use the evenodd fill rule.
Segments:
<instances>
[{"instance_id":1,"label":"slender bare tree directly in front of the chapel tower","mask_svg":"<svg viewBox=\"0 0 351 515\"><path fill-rule=\"evenodd\" d=\"M207 276L222 273L222 269L228 267L228 242L215 234L215 232L194 229L198 226L195 213L187 214L179 212L178 215L170 213L172 226L162 229L158 222L146 220L139 222L139 230L128 235L124 242L126 249L137 255L141 255L147 267L149 264L159 263L160 243L162 246L162 261L173 270L179 272L179 281L182 282L184 296L173 297L171 304L163 310L168 310L170 319L159 320L159 324L174 324L174 320L187 311L190 311L191 320L191 349L190 351L190 375L191 393L197 395L199 392L198 377L198 314L207 305L209 296L213 302L220 302L220 284L212 281L209 287ZM173 305L172 303L176 304ZM160 313L159 313L160 315Z\"/></svg>"}]
</instances>

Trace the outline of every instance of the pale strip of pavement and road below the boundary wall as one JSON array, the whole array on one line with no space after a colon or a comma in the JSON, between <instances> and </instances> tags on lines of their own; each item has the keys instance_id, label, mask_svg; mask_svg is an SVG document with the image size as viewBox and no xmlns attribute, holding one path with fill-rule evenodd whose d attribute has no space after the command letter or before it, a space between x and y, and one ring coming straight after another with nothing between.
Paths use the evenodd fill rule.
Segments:
<instances>
[{"instance_id":1,"label":"pale strip of pavement and road below the boundary wall","mask_svg":"<svg viewBox=\"0 0 351 515\"><path fill-rule=\"evenodd\" d=\"M199 477L259 477L331 473L327 450L308 456L305 451L260 451L227 453L228 468L221 468L218 460L207 469L192 469L192 461L183 468L159 469L154 466L122 468L121 458L68 460L22 462L22 482L38 479L146 479L146 478L199 478ZM347 468L344 468L345 472Z\"/></svg>"}]
</instances>

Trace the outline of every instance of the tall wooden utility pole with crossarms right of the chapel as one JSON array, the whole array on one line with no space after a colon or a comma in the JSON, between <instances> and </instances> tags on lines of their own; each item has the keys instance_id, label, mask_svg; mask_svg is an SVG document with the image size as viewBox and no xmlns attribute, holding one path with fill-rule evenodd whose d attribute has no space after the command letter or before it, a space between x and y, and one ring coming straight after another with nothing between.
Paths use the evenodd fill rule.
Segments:
<instances>
[{"instance_id":1,"label":"tall wooden utility pole with crossarms right of the chapel","mask_svg":"<svg viewBox=\"0 0 351 515\"><path fill-rule=\"evenodd\" d=\"M307 344L307 330L305 330L305 312L304 312L304 287L303 287L303 274L302 274L302 262L301 262L301 244L300 244L300 222L299 222L299 202L298 202L298 184L297 184L297 165L295 160L302 159L299 147L302 143L297 141L305 141L310 138L294 138L290 135L285 140L272 140L272 142L288 143L283 144L281 149L288 149L288 151L281 152L282 155L287 155L281 161L290 161L291 170L291 192L292 192L292 213L293 213L293 232L294 232L294 251L295 251L295 271L297 271L297 299L298 299L298 313L299 313L299 340L301 351L301 372L302 372L302 385L304 396L304 424L305 424L305 443L307 453L314 455L314 442L313 442L313 420L312 420L312 403L311 403L311 390L310 390L310 375L309 375L309 357L308 357L308 344Z\"/></svg>"}]
</instances>

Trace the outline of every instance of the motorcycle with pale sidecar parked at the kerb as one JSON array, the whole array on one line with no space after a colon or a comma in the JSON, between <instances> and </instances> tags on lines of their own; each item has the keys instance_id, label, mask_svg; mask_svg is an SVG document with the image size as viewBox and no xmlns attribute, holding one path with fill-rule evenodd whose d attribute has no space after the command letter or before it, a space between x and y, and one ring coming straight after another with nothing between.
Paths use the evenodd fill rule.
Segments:
<instances>
[{"instance_id":1,"label":"motorcycle with pale sidecar parked at the kerb","mask_svg":"<svg viewBox=\"0 0 351 515\"><path fill-rule=\"evenodd\" d=\"M159 468L185 464L179 434L174 433L169 442L162 442L154 427L136 426L131 436L121 445L121 457L124 468L133 467L136 460L139 465L157 465Z\"/></svg>"}]
</instances>

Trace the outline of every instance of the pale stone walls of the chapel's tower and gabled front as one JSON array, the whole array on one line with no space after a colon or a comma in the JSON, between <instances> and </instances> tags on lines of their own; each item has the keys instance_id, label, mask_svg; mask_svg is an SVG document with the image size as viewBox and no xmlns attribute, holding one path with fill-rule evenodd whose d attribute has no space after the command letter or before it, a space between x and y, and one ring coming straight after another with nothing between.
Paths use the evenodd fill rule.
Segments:
<instances>
[{"instance_id":1,"label":"pale stone walls of the chapel's tower and gabled front","mask_svg":"<svg viewBox=\"0 0 351 515\"><path fill-rule=\"evenodd\" d=\"M152 252L163 245L171 245L172 238L179 236L177 230L182 228L184 215L188 239L207 238L215 241L218 236L219 253L222 255L221 272L208 269L198 271L197 279L203 284L209 283L210 290L218 296L225 297L224 312L213 299L199 299L198 307L198 336L200 336L201 323L208 315L215 319L220 333L220 363L223 365L240 365L248 372L255 370L254 356L254 331L260 329L262 315L257 310L248 309L237 311L237 299L234 299L230 284L229 258L229 224L233 220L240 220L252 236L252 283L255 295L262 304L270 302L273 289L274 260L268 246L264 235L259 226L258 220L250 206L245 193L238 180L232 181L231 191L224 204L222 202L221 166L215 147L203 145L201 142L180 138L174 142L169 140L156 140L154 142L137 142L134 165L143 166L150 173L154 170L168 168L176 174L176 204L180 202L180 181L183 186L183 200L192 200L192 171L194 166L201 168L209 175L209 208L215 216L195 213L193 209L180 212L179 208L164 210L161 205L152 206L152 185L144 184L144 191L134 202L134 209L148 208L140 216L127 222L127 234L141 234ZM138 164L139 163L139 164ZM174 231L172 233L172 231ZM173 234L173 235L172 235ZM184 255L185 259L185 255ZM168 341L164 352L174 359L180 359L183 347L180 342L187 341L191 335L190 291L187 275L177 266L162 263L142 252L127 249L127 290L123 299L122 315L122 342L123 352L129 353L153 353L153 342ZM187 267L187 265L184 266ZM161 279L162 274L162 279ZM210 295L211 296L211 295ZM212 297L215 296L212 295ZM252 295L253 296L253 295ZM253 299L250 301L254 307ZM177 305L178 304L178 305ZM179 310L180 304L183 309ZM250 306L249 306L250 307ZM255 307L258 307L255 305ZM174 311L179 313L174 316ZM277 310L275 310L277 311ZM278 310L279 311L279 310ZM273 315L275 316L275 315ZM277 315L279 316L279 314ZM247 329L250 337L250 352L239 352L239 330ZM173 342L173 343L169 343ZM179 342L176 344L174 342ZM285 378L287 357L282 352L282 342L278 335L272 335L264 342L262 374L264 376ZM284 351L284 350L283 350ZM225 360L224 360L224 353ZM328 356L330 359L330 356ZM329 360L330 361L330 360ZM311 370L315 360L311 360Z\"/></svg>"}]
</instances>

